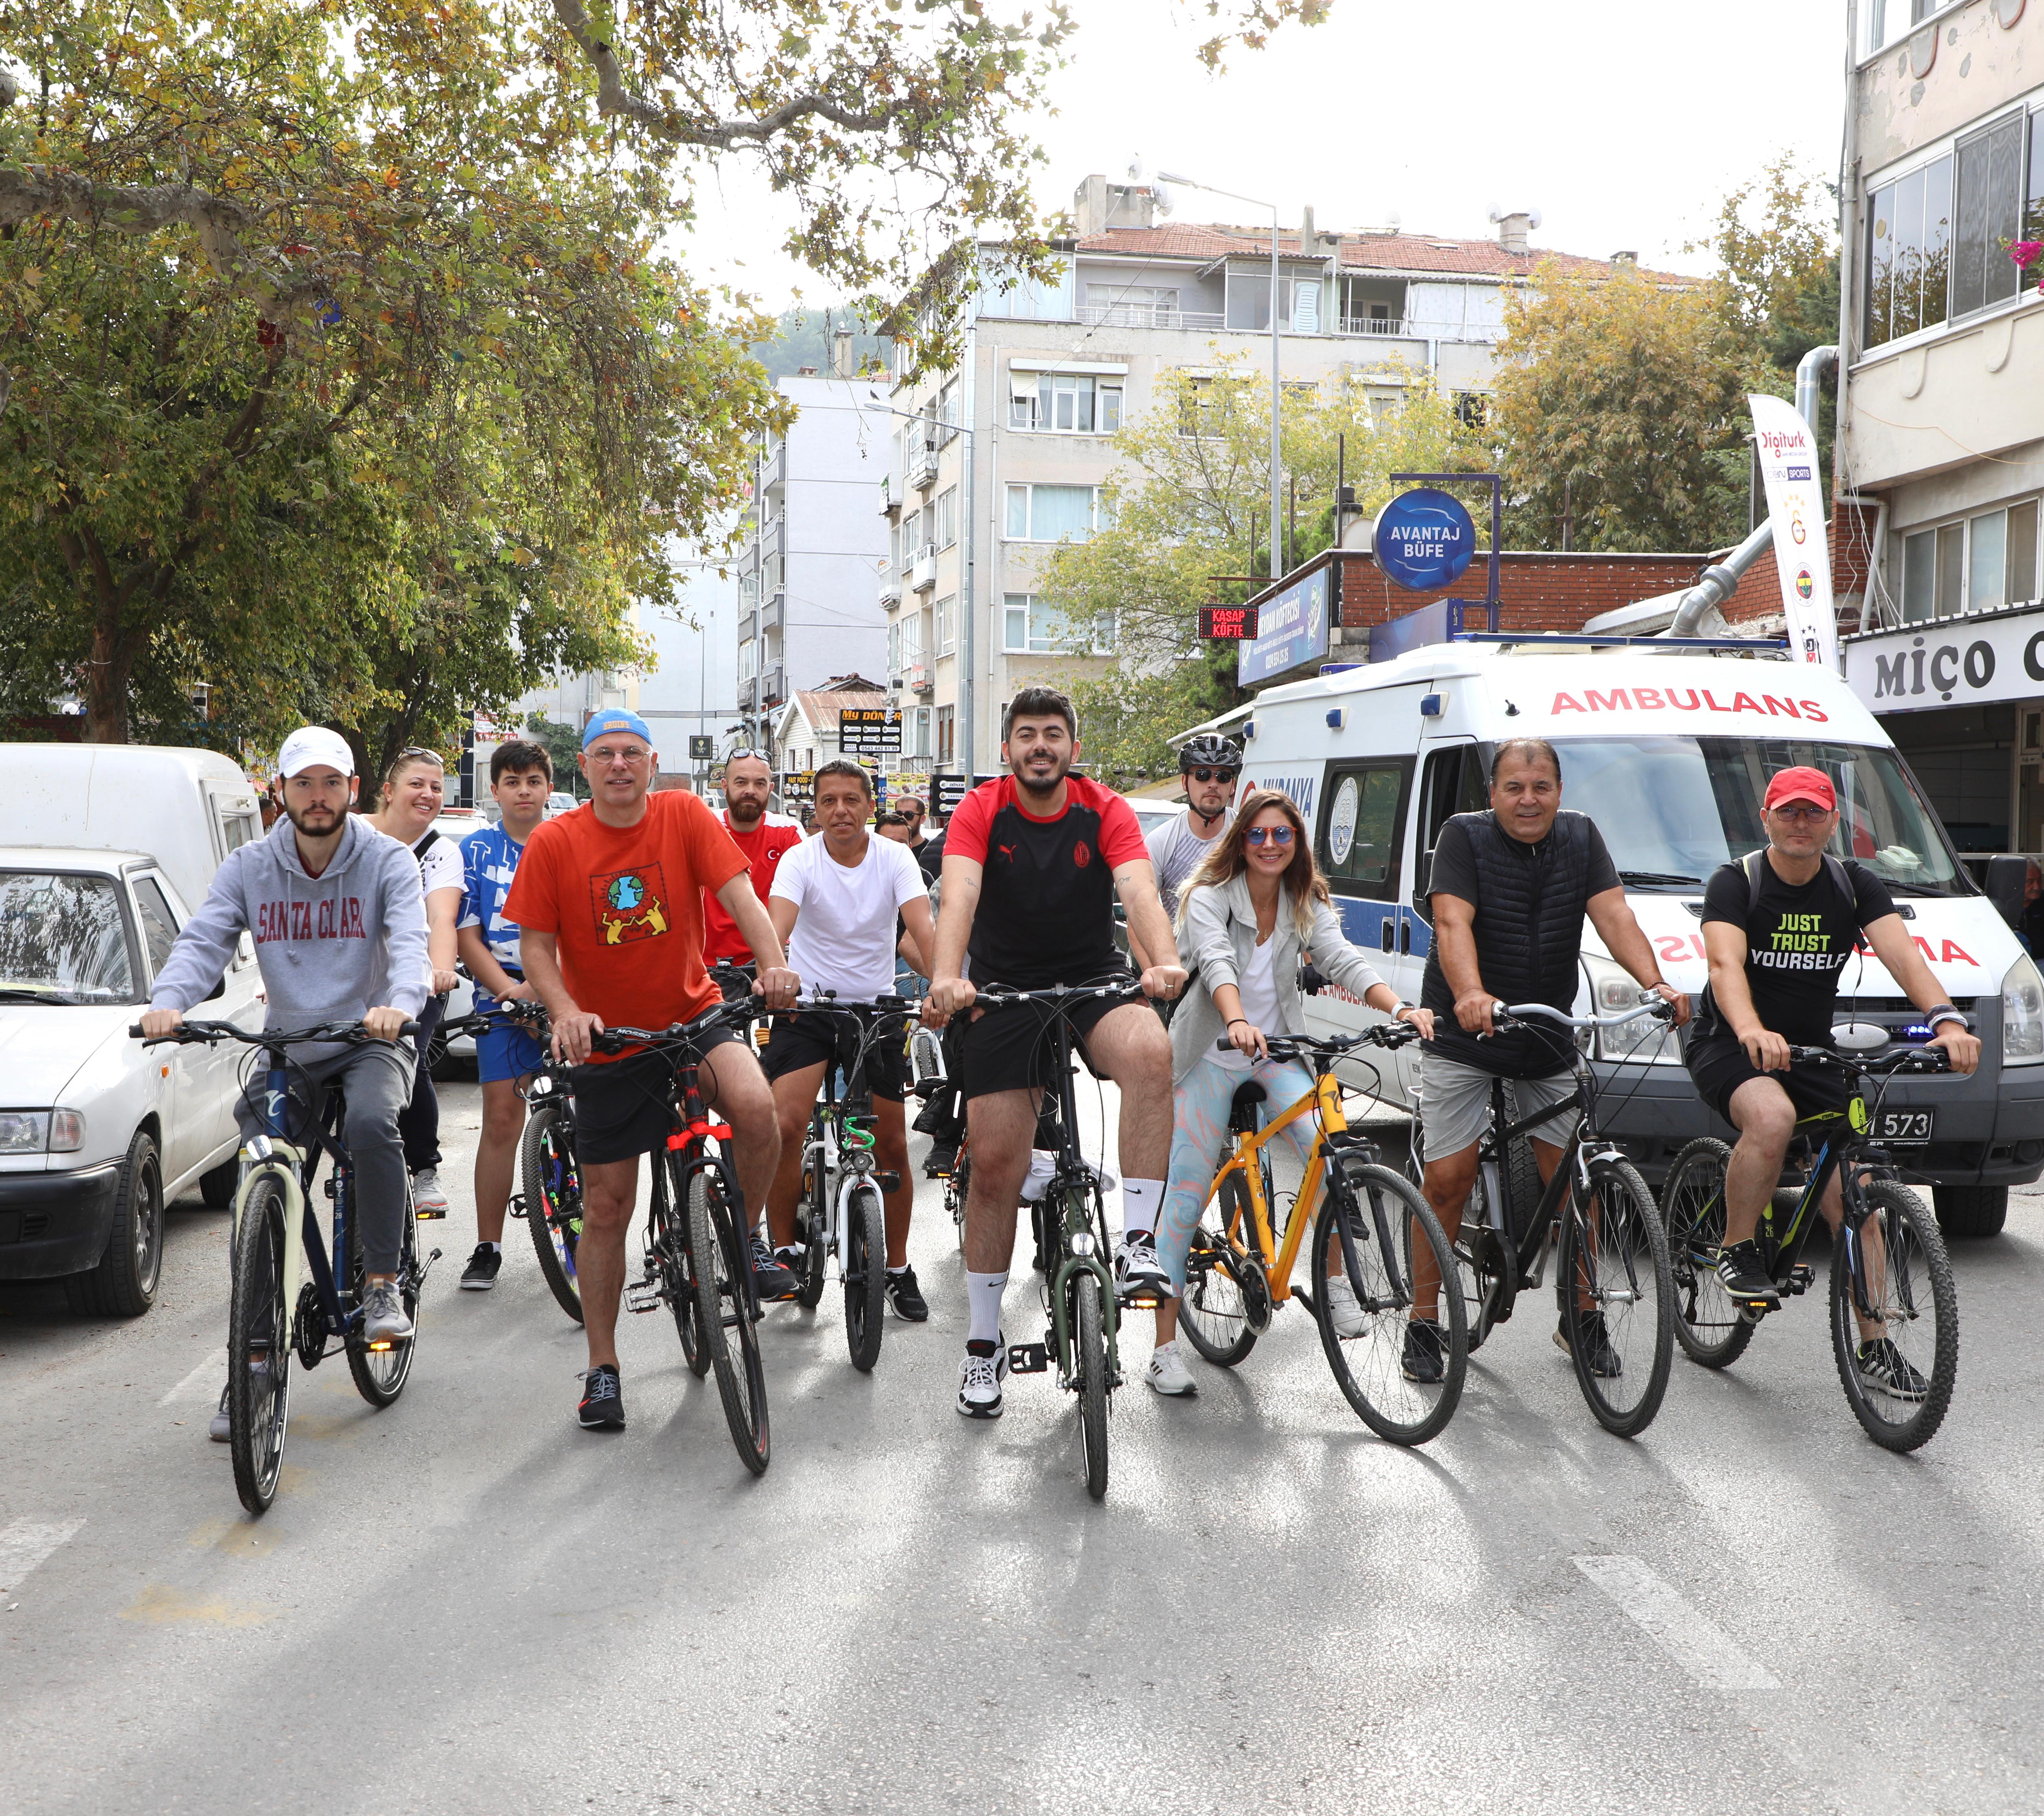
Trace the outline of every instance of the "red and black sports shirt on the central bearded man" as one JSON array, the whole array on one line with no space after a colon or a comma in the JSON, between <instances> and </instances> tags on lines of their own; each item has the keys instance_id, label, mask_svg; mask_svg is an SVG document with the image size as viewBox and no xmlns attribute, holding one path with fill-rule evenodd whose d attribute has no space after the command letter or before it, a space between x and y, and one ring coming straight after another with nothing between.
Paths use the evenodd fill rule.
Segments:
<instances>
[{"instance_id":1,"label":"red and black sports shirt on the central bearded man","mask_svg":"<svg viewBox=\"0 0 2044 1816\"><path fill-rule=\"evenodd\" d=\"M1149 862L1134 809L1083 776L1065 778L1065 811L1053 819L1022 799L1014 776L981 782L944 831L944 856L983 870L965 948L973 983L1036 991L1120 968L1114 872Z\"/></svg>"}]
</instances>

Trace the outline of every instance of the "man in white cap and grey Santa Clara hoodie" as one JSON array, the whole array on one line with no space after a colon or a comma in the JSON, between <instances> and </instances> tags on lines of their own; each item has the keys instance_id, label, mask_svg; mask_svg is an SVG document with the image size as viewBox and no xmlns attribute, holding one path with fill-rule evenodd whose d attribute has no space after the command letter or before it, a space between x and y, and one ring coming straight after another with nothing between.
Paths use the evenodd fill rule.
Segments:
<instances>
[{"instance_id":1,"label":"man in white cap and grey Santa Clara hoodie","mask_svg":"<svg viewBox=\"0 0 2044 1816\"><path fill-rule=\"evenodd\" d=\"M245 929L256 936L270 1028L360 1021L376 1036L368 1046L300 1046L292 1060L303 1066L294 1077L337 1083L347 1095L364 1334L403 1342L413 1326L397 1269L411 1183L397 1117L411 1101L417 1056L399 1030L425 1007L429 987L419 868L403 844L347 811L356 760L337 731L303 725L284 739L276 768L284 817L268 838L227 854L204 907L157 970L141 1025L145 1036L159 1036L184 1021L184 1011L221 981ZM247 1095L239 1117L243 1134L262 1132ZM213 1436L227 1440L225 1389Z\"/></svg>"}]
</instances>

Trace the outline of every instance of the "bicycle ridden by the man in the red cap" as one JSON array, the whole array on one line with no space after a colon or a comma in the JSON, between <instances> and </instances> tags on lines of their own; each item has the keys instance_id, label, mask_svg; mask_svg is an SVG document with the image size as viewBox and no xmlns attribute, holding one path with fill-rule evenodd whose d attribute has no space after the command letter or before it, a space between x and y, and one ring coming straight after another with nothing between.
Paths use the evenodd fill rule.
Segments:
<instances>
[{"instance_id":1,"label":"bicycle ridden by the man in the red cap","mask_svg":"<svg viewBox=\"0 0 2044 1816\"><path fill-rule=\"evenodd\" d=\"M1883 1036L1887 1032L1883 1030ZM1815 1283L1815 1271L1801 1258L1811 1230L1821 1222L1817 1207L1842 1177L1840 1232L1831 1242L1831 1354L1860 1428L1885 1450L1917 1450L1944 1424L1958 1379L1958 1287L1944 1248L1938 1220L1901 1183L1893 1154L1868 1130L1876 1128L1887 1081L1903 1072L1944 1072L1950 1060L1938 1048L1909 1048L1885 1058L1858 1060L1823 1046L1791 1046L1788 1058L1803 1064L1831 1064L1846 1074L1846 1109L1823 1111L1797 1121L1788 1148L1795 1166L1807 1164L1795 1209L1780 1217L1774 1195L1760 1213L1760 1258L1784 1297L1801 1297ZM1868 1105L1864 1081L1883 1079ZM1815 1128L1827 1124L1827 1128ZM1805 1134L1805 1130L1809 1130ZM1821 1138L1815 1158L1811 1142ZM1662 1207L1674 1254L1676 1338L1690 1360L1705 1369L1727 1369L1754 1340L1760 1320L1778 1309L1764 1299L1733 1301L1717 1275L1717 1252L1725 1240L1725 1166L1731 1148L1703 1136L1682 1148L1668 1168ZM1868 1232L1872 1230L1872 1240ZM1925 1293L1927 1289L1927 1293ZM1925 1313L1930 1332L1921 1330ZM1870 1381L1858 1367L1856 1326L1872 1324L1895 1346L1909 1371L1923 1383L1897 1391L1893 1383ZM1889 1416L1893 1405L1897 1416Z\"/></svg>"}]
</instances>

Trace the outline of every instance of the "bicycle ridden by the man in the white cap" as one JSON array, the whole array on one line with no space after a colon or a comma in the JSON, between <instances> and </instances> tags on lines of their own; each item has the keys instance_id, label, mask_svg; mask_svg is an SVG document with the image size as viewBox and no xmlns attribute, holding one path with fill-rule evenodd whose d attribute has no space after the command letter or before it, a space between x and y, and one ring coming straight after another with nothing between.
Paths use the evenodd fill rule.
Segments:
<instances>
[{"instance_id":1,"label":"bicycle ridden by the man in the white cap","mask_svg":"<svg viewBox=\"0 0 2044 1816\"><path fill-rule=\"evenodd\" d=\"M401 1030L409 1036L417 1032L417 1021L407 1021ZM292 1140L288 1121L290 1048L315 1042L366 1046L376 1036L360 1021L260 1034L233 1021L184 1021L155 1040L145 1040L141 1023L135 1023L129 1038L143 1040L145 1046L239 1040L270 1058L262 1087L264 1132L241 1146L241 1181L233 1201L233 1293L227 1311L227 1448L241 1506L262 1514L276 1499L284 1471L292 1354L300 1367L317 1369L339 1340L356 1391L374 1407L390 1405L411 1379L419 1293L439 1250L421 1262L417 1217L403 1220L399 1293L405 1316L413 1322L413 1336L370 1342L362 1334L366 1267L360 1222L352 1215L354 1164L341 1140L341 1087L327 1085L323 1103L311 1105L311 1132L303 1144ZM325 1195L333 1201L331 1256L311 1205L323 1154L331 1160L325 1185ZM309 1281L300 1279L307 1269Z\"/></svg>"}]
</instances>

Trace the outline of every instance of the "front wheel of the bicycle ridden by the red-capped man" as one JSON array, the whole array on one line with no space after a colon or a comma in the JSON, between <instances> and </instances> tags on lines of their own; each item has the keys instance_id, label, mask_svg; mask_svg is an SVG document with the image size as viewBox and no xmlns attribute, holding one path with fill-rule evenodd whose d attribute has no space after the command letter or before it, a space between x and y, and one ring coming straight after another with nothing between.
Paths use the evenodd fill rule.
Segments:
<instances>
[{"instance_id":1,"label":"front wheel of the bicycle ridden by the red-capped man","mask_svg":"<svg viewBox=\"0 0 2044 1816\"><path fill-rule=\"evenodd\" d=\"M1872 1205L1858 1238L1866 1307L1880 1326L1887 1358L1860 1354L1854 1316L1852 1246L1831 1238L1831 1352L1860 1428L1885 1450L1915 1450L1944 1424L1958 1381L1958 1287L1952 1260L1923 1199L1907 1185L1876 1179L1860 1187ZM1868 1240L1878 1226L1880 1248ZM1868 1344L1872 1350L1872 1344Z\"/></svg>"}]
</instances>

